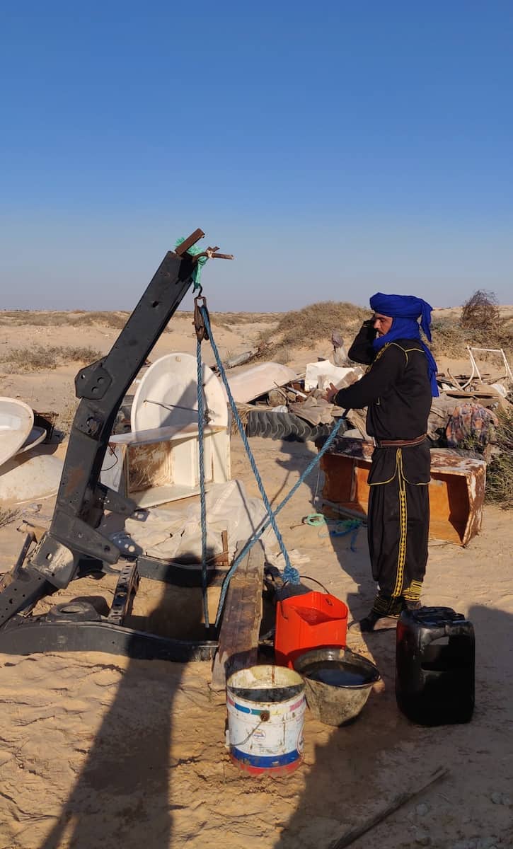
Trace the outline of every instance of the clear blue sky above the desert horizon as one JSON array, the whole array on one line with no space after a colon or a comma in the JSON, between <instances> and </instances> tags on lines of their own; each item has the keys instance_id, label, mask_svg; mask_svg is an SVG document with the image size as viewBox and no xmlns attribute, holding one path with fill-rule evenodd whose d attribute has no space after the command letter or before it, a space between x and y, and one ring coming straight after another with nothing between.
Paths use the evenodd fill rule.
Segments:
<instances>
[{"instance_id":1,"label":"clear blue sky above the desert horizon","mask_svg":"<svg viewBox=\"0 0 513 849\"><path fill-rule=\"evenodd\" d=\"M0 4L0 308L513 303L513 3ZM190 298L183 306L190 307Z\"/></svg>"}]
</instances>

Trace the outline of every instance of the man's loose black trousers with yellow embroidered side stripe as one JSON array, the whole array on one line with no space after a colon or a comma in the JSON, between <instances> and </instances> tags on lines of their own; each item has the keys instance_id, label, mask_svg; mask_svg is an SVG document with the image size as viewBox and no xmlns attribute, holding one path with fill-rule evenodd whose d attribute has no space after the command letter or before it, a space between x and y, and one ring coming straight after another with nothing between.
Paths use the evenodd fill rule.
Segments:
<instances>
[{"instance_id":1,"label":"man's loose black trousers with yellow embroidered side stripe","mask_svg":"<svg viewBox=\"0 0 513 849\"><path fill-rule=\"evenodd\" d=\"M420 599L429 531L430 453L426 444L376 448L369 475L369 554L379 584L375 609L400 612Z\"/></svg>"}]
</instances>

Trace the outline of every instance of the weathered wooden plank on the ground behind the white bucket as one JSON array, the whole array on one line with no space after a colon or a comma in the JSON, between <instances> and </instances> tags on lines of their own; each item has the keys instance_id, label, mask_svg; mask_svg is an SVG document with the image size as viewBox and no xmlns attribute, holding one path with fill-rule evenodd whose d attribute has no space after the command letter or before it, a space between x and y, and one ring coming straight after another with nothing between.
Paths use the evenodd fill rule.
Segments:
<instances>
[{"instance_id":1,"label":"weathered wooden plank on the ground behind the white bucket","mask_svg":"<svg viewBox=\"0 0 513 849\"><path fill-rule=\"evenodd\" d=\"M235 556L245 543L237 544ZM212 689L224 689L232 672L257 662L262 621L263 548L256 543L237 567L228 587L219 648L212 667Z\"/></svg>"}]
</instances>

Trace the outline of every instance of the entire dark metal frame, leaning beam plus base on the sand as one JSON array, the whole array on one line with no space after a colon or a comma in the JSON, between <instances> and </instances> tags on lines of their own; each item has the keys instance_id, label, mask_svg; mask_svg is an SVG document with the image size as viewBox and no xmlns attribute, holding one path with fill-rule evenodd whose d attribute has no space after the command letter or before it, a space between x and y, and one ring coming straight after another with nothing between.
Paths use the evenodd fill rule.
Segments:
<instances>
[{"instance_id":1,"label":"entire dark metal frame, leaning beam plus base on the sand","mask_svg":"<svg viewBox=\"0 0 513 849\"><path fill-rule=\"evenodd\" d=\"M99 474L127 389L192 284L197 255L190 256L187 250L203 235L199 229L194 231L176 251L166 254L109 354L76 375L76 396L81 402L71 427L50 529L38 528L43 531L42 536L29 531L14 569L0 583L0 651L31 654L52 649L106 650L182 662L213 658L217 641L162 638L122 625L138 587L137 563L121 570L106 619L85 603L60 604L48 615L26 616L43 596L67 587L74 577L83 576L84 564L84 574L99 571L99 565L100 571L110 572L108 564L116 563L121 554L96 529L106 509L132 514L136 505L100 484ZM216 251L217 248L209 248L203 256L233 258ZM25 564L34 542L37 548ZM226 531L223 554L214 560L214 565L228 566ZM213 574L220 576L216 570ZM156 575L154 571L148 576L170 580L167 574Z\"/></svg>"}]
</instances>

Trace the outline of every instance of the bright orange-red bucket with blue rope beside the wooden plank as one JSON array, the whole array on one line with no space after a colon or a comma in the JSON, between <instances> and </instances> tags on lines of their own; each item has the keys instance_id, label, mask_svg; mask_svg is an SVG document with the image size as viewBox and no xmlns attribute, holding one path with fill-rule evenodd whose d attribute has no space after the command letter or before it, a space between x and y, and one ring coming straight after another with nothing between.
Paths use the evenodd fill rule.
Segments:
<instances>
[{"instance_id":1,"label":"bright orange-red bucket with blue rope beside the wooden plank","mask_svg":"<svg viewBox=\"0 0 513 849\"><path fill-rule=\"evenodd\" d=\"M330 593L293 595L276 604L274 655L280 666L293 668L307 649L346 645L347 604Z\"/></svg>"}]
</instances>

